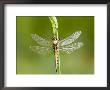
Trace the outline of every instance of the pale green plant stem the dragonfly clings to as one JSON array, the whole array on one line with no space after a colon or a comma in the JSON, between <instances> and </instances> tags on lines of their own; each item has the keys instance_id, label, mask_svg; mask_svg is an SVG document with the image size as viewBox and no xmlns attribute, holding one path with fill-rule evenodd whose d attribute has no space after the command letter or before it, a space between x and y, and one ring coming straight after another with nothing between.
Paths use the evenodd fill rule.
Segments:
<instances>
[{"instance_id":1,"label":"pale green plant stem the dragonfly clings to","mask_svg":"<svg viewBox=\"0 0 110 90\"><path fill-rule=\"evenodd\" d=\"M52 28L53 28L53 36L54 36L54 38L56 38L58 40L59 38L58 38L58 22L57 22L57 18L55 16L49 16L49 19L51 21ZM58 49L58 65L56 66L56 69L57 69L56 70L57 74L61 74L59 49Z\"/></svg>"}]
</instances>

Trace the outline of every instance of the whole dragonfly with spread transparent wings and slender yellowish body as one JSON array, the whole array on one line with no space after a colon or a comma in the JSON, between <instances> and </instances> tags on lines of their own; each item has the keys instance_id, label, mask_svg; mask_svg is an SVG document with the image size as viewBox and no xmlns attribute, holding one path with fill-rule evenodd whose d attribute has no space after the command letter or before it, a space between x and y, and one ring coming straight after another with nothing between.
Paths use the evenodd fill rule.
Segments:
<instances>
[{"instance_id":1,"label":"whole dragonfly with spread transparent wings and slender yellowish body","mask_svg":"<svg viewBox=\"0 0 110 90\"><path fill-rule=\"evenodd\" d=\"M75 40L79 38L81 33L82 33L81 31L76 31L73 34L71 34L69 37L63 40L53 37L51 41L46 40L37 34L31 34L32 39L38 45L30 46L29 48L38 54L47 54L47 53L54 52L55 67L57 70L57 64L59 64L58 62L59 52L71 54L72 52L74 52L75 50L78 50L83 46L83 42L75 42Z\"/></svg>"}]
</instances>

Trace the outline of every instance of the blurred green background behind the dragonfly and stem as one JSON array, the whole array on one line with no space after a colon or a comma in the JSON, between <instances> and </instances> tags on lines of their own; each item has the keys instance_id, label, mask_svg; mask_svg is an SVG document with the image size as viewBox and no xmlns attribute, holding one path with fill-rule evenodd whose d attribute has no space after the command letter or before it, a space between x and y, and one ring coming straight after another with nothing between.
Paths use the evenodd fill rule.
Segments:
<instances>
[{"instance_id":1,"label":"blurred green background behind the dragonfly and stem","mask_svg":"<svg viewBox=\"0 0 110 90\"><path fill-rule=\"evenodd\" d=\"M60 39L81 30L75 42L84 43L72 54L60 53L62 74L94 74L94 16L56 17ZM40 55L29 49L30 45L38 45L31 38L32 33L51 40L53 33L48 16L16 16L16 74L56 74L52 54Z\"/></svg>"}]
</instances>

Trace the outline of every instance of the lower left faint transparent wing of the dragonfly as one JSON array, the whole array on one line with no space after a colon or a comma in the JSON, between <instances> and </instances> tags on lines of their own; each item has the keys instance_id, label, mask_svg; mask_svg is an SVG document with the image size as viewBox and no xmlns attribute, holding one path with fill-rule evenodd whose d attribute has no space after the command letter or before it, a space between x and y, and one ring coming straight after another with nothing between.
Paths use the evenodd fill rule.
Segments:
<instances>
[{"instance_id":1,"label":"lower left faint transparent wing of the dragonfly","mask_svg":"<svg viewBox=\"0 0 110 90\"><path fill-rule=\"evenodd\" d=\"M32 51L38 54L48 54L52 53L52 49L49 47L40 47L40 46L30 46L29 47Z\"/></svg>"}]
</instances>

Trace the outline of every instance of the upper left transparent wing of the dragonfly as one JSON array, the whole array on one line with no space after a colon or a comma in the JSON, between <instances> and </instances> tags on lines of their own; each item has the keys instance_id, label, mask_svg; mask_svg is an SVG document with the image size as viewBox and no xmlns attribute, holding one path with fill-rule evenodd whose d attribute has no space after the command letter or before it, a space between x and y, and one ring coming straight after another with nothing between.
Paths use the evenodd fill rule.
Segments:
<instances>
[{"instance_id":1,"label":"upper left transparent wing of the dragonfly","mask_svg":"<svg viewBox=\"0 0 110 90\"><path fill-rule=\"evenodd\" d=\"M40 37L37 34L31 34L31 37L33 40L35 40L41 46L50 46L51 45L51 42L43 39L42 37Z\"/></svg>"}]
</instances>

